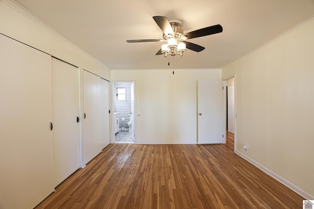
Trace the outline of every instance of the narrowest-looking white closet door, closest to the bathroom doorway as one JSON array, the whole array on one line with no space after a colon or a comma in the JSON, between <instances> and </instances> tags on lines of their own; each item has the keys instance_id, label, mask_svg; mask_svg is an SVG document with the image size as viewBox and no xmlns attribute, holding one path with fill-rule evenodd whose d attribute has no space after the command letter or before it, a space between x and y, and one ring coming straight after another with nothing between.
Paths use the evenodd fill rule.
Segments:
<instances>
[{"instance_id":1,"label":"narrowest-looking white closet door, closest to the bathroom doorway","mask_svg":"<svg viewBox=\"0 0 314 209\"><path fill-rule=\"evenodd\" d=\"M110 144L110 115L109 115L109 81L101 79L102 93L102 148Z\"/></svg>"}]
</instances>

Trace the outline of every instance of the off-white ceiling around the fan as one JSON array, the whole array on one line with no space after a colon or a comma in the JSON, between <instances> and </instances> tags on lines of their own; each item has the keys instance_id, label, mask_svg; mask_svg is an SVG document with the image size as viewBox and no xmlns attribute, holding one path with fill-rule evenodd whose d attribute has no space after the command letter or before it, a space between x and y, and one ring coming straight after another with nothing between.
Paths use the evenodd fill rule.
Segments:
<instances>
[{"instance_id":1,"label":"off-white ceiling around the fan","mask_svg":"<svg viewBox=\"0 0 314 209\"><path fill-rule=\"evenodd\" d=\"M314 15L314 0L16 0L110 69L166 69L153 16L183 22L184 33L221 24L223 32L190 39L204 46L174 57L175 69L222 68ZM172 63L172 57L169 61Z\"/></svg>"}]
</instances>

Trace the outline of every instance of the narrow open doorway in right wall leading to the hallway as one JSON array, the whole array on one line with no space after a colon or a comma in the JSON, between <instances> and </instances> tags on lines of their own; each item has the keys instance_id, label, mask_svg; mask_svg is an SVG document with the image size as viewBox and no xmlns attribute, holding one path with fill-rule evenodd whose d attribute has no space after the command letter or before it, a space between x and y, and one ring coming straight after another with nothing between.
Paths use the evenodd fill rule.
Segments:
<instances>
[{"instance_id":1,"label":"narrow open doorway in right wall leading to the hallway","mask_svg":"<svg viewBox=\"0 0 314 209\"><path fill-rule=\"evenodd\" d=\"M235 150L235 76L226 79L226 129L227 143L231 143Z\"/></svg>"}]
</instances>

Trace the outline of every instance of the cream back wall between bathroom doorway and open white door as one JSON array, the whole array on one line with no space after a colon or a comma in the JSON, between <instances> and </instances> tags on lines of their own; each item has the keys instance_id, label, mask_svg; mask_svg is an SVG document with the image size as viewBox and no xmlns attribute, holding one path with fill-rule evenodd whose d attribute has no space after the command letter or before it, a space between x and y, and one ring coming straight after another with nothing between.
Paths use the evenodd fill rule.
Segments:
<instances>
[{"instance_id":1,"label":"cream back wall between bathroom doorway and open white door","mask_svg":"<svg viewBox=\"0 0 314 209\"><path fill-rule=\"evenodd\" d=\"M111 80L135 81L137 143L196 143L196 81L221 70L111 70Z\"/></svg>"}]
</instances>

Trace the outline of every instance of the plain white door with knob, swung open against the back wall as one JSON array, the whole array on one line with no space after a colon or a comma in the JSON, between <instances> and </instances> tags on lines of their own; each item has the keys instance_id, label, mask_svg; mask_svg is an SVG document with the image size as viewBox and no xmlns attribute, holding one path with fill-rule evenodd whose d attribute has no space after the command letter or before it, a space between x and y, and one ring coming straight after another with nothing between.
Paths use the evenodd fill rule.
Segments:
<instances>
[{"instance_id":1,"label":"plain white door with knob, swung open against the back wall","mask_svg":"<svg viewBox=\"0 0 314 209\"><path fill-rule=\"evenodd\" d=\"M224 82L198 81L198 143L224 143Z\"/></svg>"}]
</instances>

